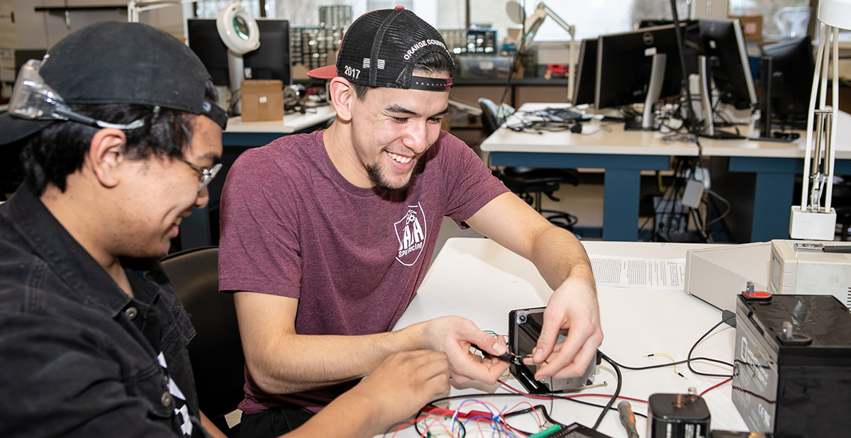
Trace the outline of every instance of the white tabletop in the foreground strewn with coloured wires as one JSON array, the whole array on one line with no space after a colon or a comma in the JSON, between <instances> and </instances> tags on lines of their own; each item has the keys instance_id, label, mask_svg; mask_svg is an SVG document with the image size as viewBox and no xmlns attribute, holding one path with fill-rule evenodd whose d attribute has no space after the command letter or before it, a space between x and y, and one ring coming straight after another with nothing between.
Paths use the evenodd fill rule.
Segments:
<instances>
[{"instance_id":1,"label":"white tabletop in the foreground strewn with coloured wires","mask_svg":"<svg viewBox=\"0 0 851 438\"><path fill-rule=\"evenodd\" d=\"M689 248L708 247L681 243L646 242L584 242L591 255L613 255L654 259L682 259ZM600 350L623 365L640 367L665 363L664 356L645 357L651 353L665 353L677 361L688 355L692 344L700 335L721 321L721 311L700 299L682 291L633 289L625 287L598 287L600 316L605 338ZM528 260L511 253L489 239L449 239L437 255L434 264L420 286L417 296L397 323L407 327L419 321L445 316L459 315L470 318L478 327L496 333L508 333L508 312L515 309L545 305L551 289ZM707 356L733 362L735 330L726 324L718 327L695 350L694 356ZM732 373L732 369L710 366L696 362L694 368L706 373ZM689 387L698 392L722 382L722 378L705 378L688 371L688 367L677 366L678 376L671 367L648 371L622 370L623 388L621 395L647 400L655 393L687 393ZM608 362L597 367L595 383L608 383L608 387L597 387L586 392L612 394L614 392L614 370ZM506 383L518 389L523 386L513 377ZM498 387L483 384L472 388L453 388L450 395L486 392L505 392ZM704 399L711 411L713 429L747 430L739 412L730 399L730 384L711 390ZM483 399L499 407L511 407L517 401L544 404L550 409L549 401L533 401L520 396ZM583 399L600 405L608 399L588 397ZM632 402L635 412L646 413L643 403ZM451 407L457 407L453 401ZM601 410L570 401L555 401L551 416L563 424L579 422L588 427L594 424ZM615 404L616 406L616 404ZM481 407L470 407L482 410ZM469 409L469 408L467 408ZM462 410L467 410L462 409ZM639 435L645 436L646 422L637 417ZM615 438L625 437L617 412L610 411L599 429ZM477 437L475 426L467 427L468 437ZM486 432L489 436L489 432ZM389 436L389 435L388 435ZM398 436L419 436L413 427L403 429Z\"/></svg>"}]
</instances>

